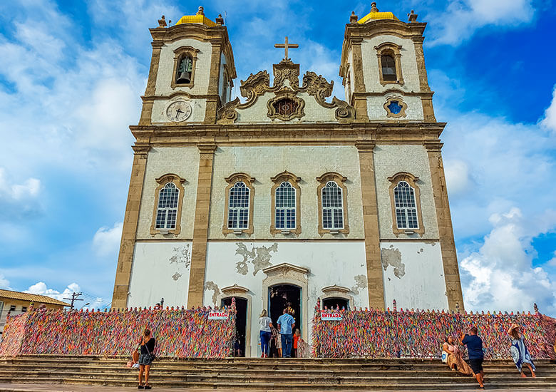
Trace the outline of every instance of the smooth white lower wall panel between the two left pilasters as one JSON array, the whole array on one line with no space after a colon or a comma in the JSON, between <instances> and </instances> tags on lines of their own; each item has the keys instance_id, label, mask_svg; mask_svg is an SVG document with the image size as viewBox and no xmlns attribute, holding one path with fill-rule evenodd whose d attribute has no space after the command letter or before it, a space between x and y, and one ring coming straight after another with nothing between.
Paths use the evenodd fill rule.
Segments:
<instances>
[{"instance_id":1,"label":"smooth white lower wall panel between the two left pilasters","mask_svg":"<svg viewBox=\"0 0 556 392\"><path fill-rule=\"evenodd\" d=\"M191 242L136 242L128 306L187 306Z\"/></svg>"}]
</instances>

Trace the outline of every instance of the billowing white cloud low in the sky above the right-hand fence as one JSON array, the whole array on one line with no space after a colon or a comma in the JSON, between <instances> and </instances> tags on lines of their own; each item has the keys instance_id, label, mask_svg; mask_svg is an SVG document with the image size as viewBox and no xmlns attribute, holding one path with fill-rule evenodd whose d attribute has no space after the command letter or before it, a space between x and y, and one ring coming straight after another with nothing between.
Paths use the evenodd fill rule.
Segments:
<instances>
[{"instance_id":1,"label":"billowing white cloud low in the sky above the right-hand fence","mask_svg":"<svg viewBox=\"0 0 556 392\"><path fill-rule=\"evenodd\" d=\"M536 302L543 313L554 314L556 282L542 267L532 267L536 225L515 207L491 215L490 222L493 229L480 249L460 261L466 308L522 311Z\"/></svg>"}]
</instances>

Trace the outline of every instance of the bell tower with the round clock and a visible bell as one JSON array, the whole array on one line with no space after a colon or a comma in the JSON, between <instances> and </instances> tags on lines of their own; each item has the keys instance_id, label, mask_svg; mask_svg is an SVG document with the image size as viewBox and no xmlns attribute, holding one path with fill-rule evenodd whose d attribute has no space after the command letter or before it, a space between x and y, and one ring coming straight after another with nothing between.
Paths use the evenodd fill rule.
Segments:
<instances>
[{"instance_id":1,"label":"bell tower with the round clock and a visible bell","mask_svg":"<svg viewBox=\"0 0 556 392\"><path fill-rule=\"evenodd\" d=\"M174 26L163 16L150 34L153 57L139 125L215 123L237 77L222 16L212 21L199 7Z\"/></svg>"}]
</instances>

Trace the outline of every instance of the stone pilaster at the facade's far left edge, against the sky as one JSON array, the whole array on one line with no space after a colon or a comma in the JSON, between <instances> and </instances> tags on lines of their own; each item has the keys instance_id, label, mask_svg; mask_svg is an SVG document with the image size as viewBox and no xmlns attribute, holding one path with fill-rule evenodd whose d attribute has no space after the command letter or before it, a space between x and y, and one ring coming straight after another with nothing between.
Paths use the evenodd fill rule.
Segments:
<instances>
[{"instance_id":1,"label":"stone pilaster at the facade's far left edge, against the sky","mask_svg":"<svg viewBox=\"0 0 556 392\"><path fill-rule=\"evenodd\" d=\"M135 155L133 156L133 166L131 167L128 202L125 206L120 254L118 255L118 267L116 268L114 293L112 296L112 307L114 308L124 308L128 304L133 250L137 236L139 210L149 150L150 145L148 143L135 143L133 146Z\"/></svg>"}]
</instances>

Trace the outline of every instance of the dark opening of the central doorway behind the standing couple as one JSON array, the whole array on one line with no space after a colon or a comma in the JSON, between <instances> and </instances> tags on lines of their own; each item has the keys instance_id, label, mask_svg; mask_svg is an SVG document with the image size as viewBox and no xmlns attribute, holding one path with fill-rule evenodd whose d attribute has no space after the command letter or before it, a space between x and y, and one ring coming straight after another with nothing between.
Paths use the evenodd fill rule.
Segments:
<instances>
[{"instance_id":1,"label":"dark opening of the central doorway behind the standing couple","mask_svg":"<svg viewBox=\"0 0 556 392\"><path fill-rule=\"evenodd\" d=\"M295 319L294 328L302 329L301 287L293 284L277 284L268 288L269 317L277 327L278 317L282 316L284 308L290 309ZM293 331L292 331L293 332Z\"/></svg>"}]
</instances>

